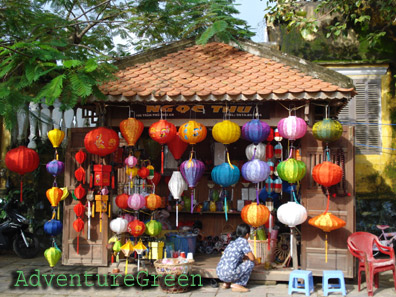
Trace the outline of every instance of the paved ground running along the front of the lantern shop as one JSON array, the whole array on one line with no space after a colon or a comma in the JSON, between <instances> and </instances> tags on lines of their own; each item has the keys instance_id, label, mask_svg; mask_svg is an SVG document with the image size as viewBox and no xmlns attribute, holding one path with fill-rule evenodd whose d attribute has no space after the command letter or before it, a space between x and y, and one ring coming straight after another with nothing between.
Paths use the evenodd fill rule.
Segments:
<instances>
[{"instance_id":1,"label":"paved ground running along the front of the lantern shop","mask_svg":"<svg viewBox=\"0 0 396 297\"><path fill-rule=\"evenodd\" d=\"M48 267L47 261L44 257L40 256L35 259L20 259L11 253L0 254L0 296L169 296L173 295L175 297L234 297L234 296L260 296L260 297L281 297L288 296L287 289L288 285L286 282L277 283L274 285L264 285L261 283L249 283L248 287L250 292L248 293L235 293L231 290L224 290L220 288L212 288L209 280L203 281L203 286L197 289L192 289L188 293L183 294L167 294L162 291L159 287L154 288L143 288L140 287L110 287L111 281L109 280L109 287L99 288L76 288L76 287L57 287L48 286L44 287L45 281L41 278L41 287L23 287L24 279L26 278L27 284L29 284L29 276L33 270L39 270L40 274L48 274L48 281L50 281L51 269ZM17 271L22 271L17 273ZM35 271L37 272L37 271ZM58 274L96 274L96 267L82 267L82 266L63 266L58 263L55 267L53 273ZM56 277L56 276L55 276ZM19 282L18 282L19 281ZM18 283L20 286L15 287L14 285ZM32 278L32 283L36 283L36 278ZM83 281L82 281L83 283ZM347 280L347 296L350 297L364 297L367 296L367 291L365 283L362 284L362 291L357 290L357 281ZM321 278L315 278L315 292L311 294L313 297L323 296L323 291L321 288ZM302 293L294 293L293 296L305 296ZM330 293L329 296L341 296L340 293ZM380 275L380 286L379 289L374 291L374 296L379 297L395 297L396 291L393 285L393 278L391 273L382 273Z\"/></svg>"}]
</instances>

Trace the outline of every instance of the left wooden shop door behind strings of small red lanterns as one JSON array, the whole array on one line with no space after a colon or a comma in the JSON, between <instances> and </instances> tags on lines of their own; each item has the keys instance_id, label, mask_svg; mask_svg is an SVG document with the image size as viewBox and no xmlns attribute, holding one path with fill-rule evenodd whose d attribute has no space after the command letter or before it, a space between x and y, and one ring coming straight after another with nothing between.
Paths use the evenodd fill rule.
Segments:
<instances>
[{"instance_id":1,"label":"left wooden shop door behind strings of small red lanterns","mask_svg":"<svg viewBox=\"0 0 396 297\"><path fill-rule=\"evenodd\" d=\"M72 128L68 130L68 146L66 150L65 162L65 186L69 192L73 192L78 186L78 181L74 177L74 171L78 168L78 163L74 159L74 155L84 147L84 137L92 128ZM88 191L89 187L89 173L91 161L99 162L98 156L87 154L87 159L82 167L86 171L86 180L88 184L83 187ZM83 199L85 203L86 199ZM102 232L99 230L99 213L91 218L91 238L87 239L88 223L87 213L82 218L84 220L84 231L79 238L79 254L77 254L77 233L73 228L73 222L76 220L76 215L73 207L77 201L73 200L70 194L64 201L63 207L63 238L62 238L62 264L63 265L86 265L86 266L107 266L108 265L108 251L106 244L108 240L108 217L102 215Z\"/></svg>"}]
</instances>

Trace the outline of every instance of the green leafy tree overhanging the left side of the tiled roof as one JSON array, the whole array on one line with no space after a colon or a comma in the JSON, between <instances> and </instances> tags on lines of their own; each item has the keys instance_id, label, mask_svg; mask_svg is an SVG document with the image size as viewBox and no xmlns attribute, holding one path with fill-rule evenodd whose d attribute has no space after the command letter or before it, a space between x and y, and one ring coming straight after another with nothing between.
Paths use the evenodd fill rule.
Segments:
<instances>
[{"instance_id":1,"label":"green leafy tree overhanging the left side of the tiled roof","mask_svg":"<svg viewBox=\"0 0 396 297\"><path fill-rule=\"evenodd\" d=\"M129 44L142 50L196 38L225 42L253 35L234 0L3 0L0 3L0 115L12 127L29 102L72 108L112 79Z\"/></svg>"}]
</instances>

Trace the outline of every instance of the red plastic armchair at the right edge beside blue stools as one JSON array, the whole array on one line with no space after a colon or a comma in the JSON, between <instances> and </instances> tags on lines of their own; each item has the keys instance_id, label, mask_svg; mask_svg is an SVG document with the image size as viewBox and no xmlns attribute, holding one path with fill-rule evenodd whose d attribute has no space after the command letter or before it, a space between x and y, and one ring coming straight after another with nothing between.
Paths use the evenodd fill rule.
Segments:
<instances>
[{"instance_id":1,"label":"red plastic armchair at the right edge beside blue stools","mask_svg":"<svg viewBox=\"0 0 396 297\"><path fill-rule=\"evenodd\" d=\"M366 273L366 285L368 296L373 296L373 281L375 287L379 285L379 273L393 271L393 281L396 290L395 252L392 247L384 246L377 236L367 232L355 232L348 237L348 250L359 259L358 290L360 291L361 272ZM373 245L389 258L376 259L373 256Z\"/></svg>"}]
</instances>

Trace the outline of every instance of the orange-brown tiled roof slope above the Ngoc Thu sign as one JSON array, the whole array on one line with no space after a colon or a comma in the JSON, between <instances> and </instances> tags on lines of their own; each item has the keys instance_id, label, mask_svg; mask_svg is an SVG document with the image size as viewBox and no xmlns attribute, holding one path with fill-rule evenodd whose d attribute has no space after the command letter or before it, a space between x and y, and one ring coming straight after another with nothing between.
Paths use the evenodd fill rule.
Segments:
<instances>
[{"instance_id":1,"label":"orange-brown tiled roof slope above the Ngoc Thu sign","mask_svg":"<svg viewBox=\"0 0 396 297\"><path fill-rule=\"evenodd\" d=\"M128 67L116 76L100 88L110 101L312 100L355 93L302 73L295 64L217 42Z\"/></svg>"}]
</instances>

